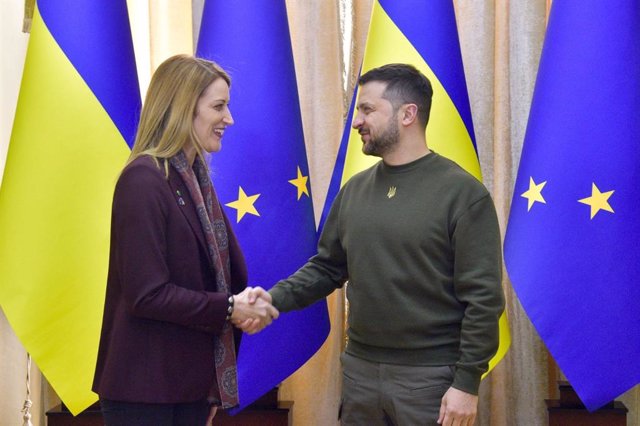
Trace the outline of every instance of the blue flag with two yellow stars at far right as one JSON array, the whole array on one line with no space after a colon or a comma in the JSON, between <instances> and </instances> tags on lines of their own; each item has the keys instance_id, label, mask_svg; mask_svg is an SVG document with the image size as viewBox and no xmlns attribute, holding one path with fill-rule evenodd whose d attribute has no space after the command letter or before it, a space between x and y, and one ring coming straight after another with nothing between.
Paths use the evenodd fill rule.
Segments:
<instances>
[{"instance_id":1,"label":"blue flag with two yellow stars at far right","mask_svg":"<svg viewBox=\"0 0 640 426\"><path fill-rule=\"evenodd\" d=\"M640 383L640 1L554 2L505 239L590 410Z\"/></svg>"}]
</instances>

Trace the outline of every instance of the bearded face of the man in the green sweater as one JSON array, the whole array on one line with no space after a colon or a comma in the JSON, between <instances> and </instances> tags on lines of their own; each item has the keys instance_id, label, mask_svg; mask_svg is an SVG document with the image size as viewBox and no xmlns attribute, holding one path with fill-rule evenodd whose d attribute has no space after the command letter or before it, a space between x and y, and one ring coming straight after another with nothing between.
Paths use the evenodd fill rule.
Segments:
<instances>
[{"instance_id":1,"label":"bearded face of the man in the green sweater","mask_svg":"<svg viewBox=\"0 0 640 426\"><path fill-rule=\"evenodd\" d=\"M370 81L360 88L358 113L352 126L360 133L366 155L382 157L398 143L397 110L382 97L386 87L386 83Z\"/></svg>"}]
</instances>

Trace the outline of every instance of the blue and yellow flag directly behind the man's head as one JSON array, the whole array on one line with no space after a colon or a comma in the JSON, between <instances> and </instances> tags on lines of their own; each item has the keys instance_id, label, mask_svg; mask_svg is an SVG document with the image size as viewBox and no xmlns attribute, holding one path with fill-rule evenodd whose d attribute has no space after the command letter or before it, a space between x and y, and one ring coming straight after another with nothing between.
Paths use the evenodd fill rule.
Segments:
<instances>
[{"instance_id":1,"label":"blue and yellow flag directly behind the man's head","mask_svg":"<svg viewBox=\"0 0 640 426\"><path fill-rule=\"evenodd\" d=\"M462 67L453 2L450 0L374 0L361 73L389 63L408 63L429 78L433 104L427 126L429 148L482 179L475 147L471 108ZM357 130L351 128L353 95L338 158L329 185L321 226L340 187L377 161L362 154ZM511 344L506 314L500 318L500 347L492 369Z\"/></svg>"}]
</instances>

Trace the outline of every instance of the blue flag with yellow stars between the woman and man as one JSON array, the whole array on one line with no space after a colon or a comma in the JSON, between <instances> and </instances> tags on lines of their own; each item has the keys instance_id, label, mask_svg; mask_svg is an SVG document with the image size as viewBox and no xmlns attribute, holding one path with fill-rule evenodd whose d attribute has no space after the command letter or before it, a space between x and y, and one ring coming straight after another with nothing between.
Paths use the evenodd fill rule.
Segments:
<instances>
[{"instance_id":1,"label":"blue flag with yellow stars between the woman and man","mask_svg":"<svg viewBox=\"0 0 640 426\"><path fill-rule=\"evenodd\" d=\"M270 288L316 252L296 75L284 0L205 3L197 56L231 75L231 114L211 158L220 202L235 222L250 285ZM296 371L329 332L325 301L281 315L244 336L238 358L241 408Z\"/></svg>"}]
</instances>

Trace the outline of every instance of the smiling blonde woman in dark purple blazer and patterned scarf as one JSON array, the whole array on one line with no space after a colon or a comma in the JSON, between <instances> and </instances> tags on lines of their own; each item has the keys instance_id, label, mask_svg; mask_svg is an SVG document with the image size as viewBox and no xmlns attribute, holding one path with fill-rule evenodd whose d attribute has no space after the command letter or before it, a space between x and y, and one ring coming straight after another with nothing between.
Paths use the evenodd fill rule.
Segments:
<instances>
[{"instance_id":1,"label":"smiling blonde woman in dark purple blazer and patterned scarf","mask_svg":"<svg viewBox=\"0 0 640 426\"><path fill-rule=\"evenodd\" d=\"M229 84L186 55L151 79L113 198L93 383L107 425L204 425L211 405L237 405L231 322L255 332L278 315L242 292L244 258L204 158L233 124Z\"/></svg>"}]
</instances>

